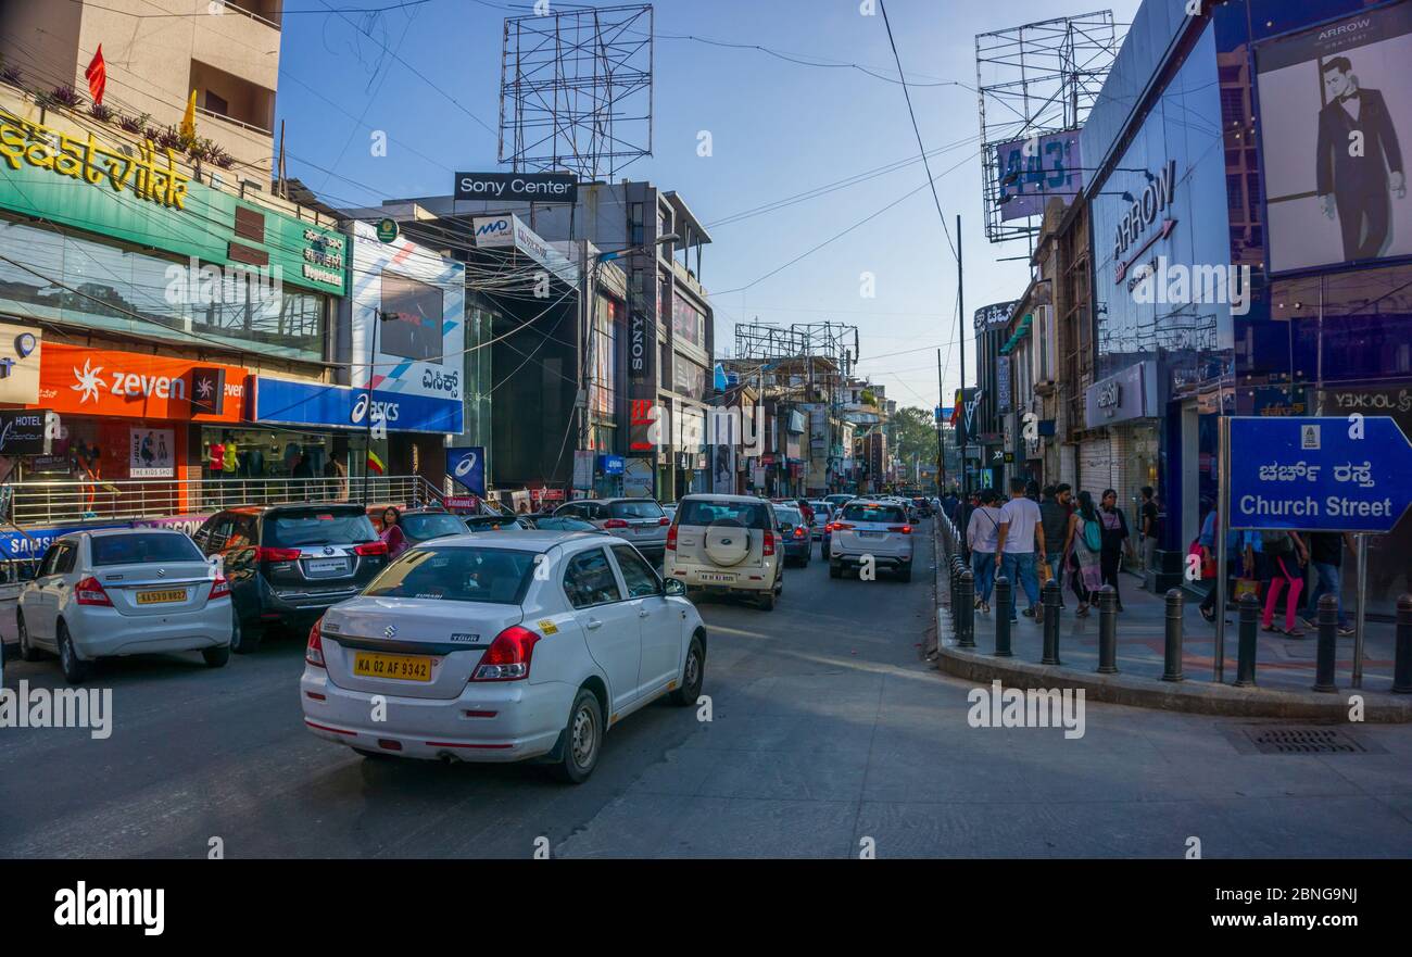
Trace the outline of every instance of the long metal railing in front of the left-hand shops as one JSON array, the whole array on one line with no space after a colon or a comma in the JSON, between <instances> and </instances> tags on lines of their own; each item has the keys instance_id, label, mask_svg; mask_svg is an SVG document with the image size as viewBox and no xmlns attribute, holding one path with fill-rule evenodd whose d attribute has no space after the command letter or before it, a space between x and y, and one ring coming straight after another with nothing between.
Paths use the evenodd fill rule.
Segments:
<instances>
[{"instance_id":1,"label":"long metal railing in front of the left-hand shops","mask_svg":"<svg viewBox=\"0 0 1412 957\"><path fill-rule=\"evenodd\" d=\"M11 488L10 521L20 528L191 515L233 505L364 501L425 505L439 504L443 497L421 476L62 480L17 481Z\"/></svg>"}]
</instances>

